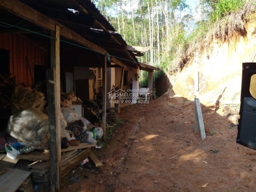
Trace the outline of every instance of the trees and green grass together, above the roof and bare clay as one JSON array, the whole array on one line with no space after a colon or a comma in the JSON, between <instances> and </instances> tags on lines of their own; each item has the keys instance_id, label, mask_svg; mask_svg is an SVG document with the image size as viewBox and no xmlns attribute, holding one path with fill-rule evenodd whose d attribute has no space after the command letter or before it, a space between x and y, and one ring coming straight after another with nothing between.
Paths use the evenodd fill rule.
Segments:
<instances>
[{"instance_id":1,"label":"trees and green grass together, above the roof and bare clay","mask_svg":"<svg viewBox=\"0 0 256 192\"><path fill-rule=\"evenodd\" d=\"M201 20L196 23L196 14L188 12L186 0L92 1L128 45L150 48L142 57L145 63L157 63L165 70L185 64L202 42L215 37L226 40L232 31L243 31L243 16L234 13L248 0L199 0L196 12ZM135 2L139 6L133 10L124 6ZM146 75L141 76L140 85L147 86L147 80Z\"/></svg>"}]
</instances>

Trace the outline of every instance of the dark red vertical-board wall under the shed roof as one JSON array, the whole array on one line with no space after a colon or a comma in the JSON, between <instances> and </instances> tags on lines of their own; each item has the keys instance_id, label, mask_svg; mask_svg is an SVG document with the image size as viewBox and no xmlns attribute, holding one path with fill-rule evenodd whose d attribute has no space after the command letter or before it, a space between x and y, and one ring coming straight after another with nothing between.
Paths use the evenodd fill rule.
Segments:
<instances>
[{"instance_id":1,"label":"dark red vertical-board wall under the shed roof","mask_svg":"<svg viewBox=\"0 0 256 192\"><path fill-rule=\"evenodd\" d=\"M0 34L0 49L9 50L10 73L12 78L15 76L16 85L24 83L31 87L34 83L33 64L47 65L49 42L30 40L19 34Z\"/></svg>"}]
</instances>

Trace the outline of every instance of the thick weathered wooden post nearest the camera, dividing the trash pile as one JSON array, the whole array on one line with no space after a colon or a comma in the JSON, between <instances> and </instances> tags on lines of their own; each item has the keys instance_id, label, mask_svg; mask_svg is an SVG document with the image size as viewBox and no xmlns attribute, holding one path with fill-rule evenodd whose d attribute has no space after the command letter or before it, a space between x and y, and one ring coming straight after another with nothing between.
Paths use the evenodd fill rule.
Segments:
<instances>
[{"instance_id":1,"label":"thick weathered wooden post nearest the camera, dividing the trash pile","mask_svg":"<svg viewBox=\"0 0 256 192\"><path fill-rule=\"evenodd\" d=\"M60 27L51 32L51 70L47 71L50 134L50 181L52 191L60 191Z\"/></svg>"}]
</instances>

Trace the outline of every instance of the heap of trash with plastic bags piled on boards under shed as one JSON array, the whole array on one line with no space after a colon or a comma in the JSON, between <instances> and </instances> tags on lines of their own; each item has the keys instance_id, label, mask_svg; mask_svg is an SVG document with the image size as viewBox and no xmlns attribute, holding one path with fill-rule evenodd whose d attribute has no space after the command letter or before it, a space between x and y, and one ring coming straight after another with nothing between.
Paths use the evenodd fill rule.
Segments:
<instances>
[{"instance_id":1,"label":"heap of trash with plastic bags piled on boards under shed","mask_svg":"<svg viewBox=\"0 0 256 192\"><path fill-rule=\"evenodd\" d=\"M103 129L92 124L70 108L76 100L73 92L61 94L60 133L61 148L68 148L72 141L96 144L103 136ZM12 102L13 115L8 121L7 133L11 138L4 145L7 156L16 156L36 149L49 148L49 123L44 95L31 88L15 87Z\"/></svg>"}]
</instances>

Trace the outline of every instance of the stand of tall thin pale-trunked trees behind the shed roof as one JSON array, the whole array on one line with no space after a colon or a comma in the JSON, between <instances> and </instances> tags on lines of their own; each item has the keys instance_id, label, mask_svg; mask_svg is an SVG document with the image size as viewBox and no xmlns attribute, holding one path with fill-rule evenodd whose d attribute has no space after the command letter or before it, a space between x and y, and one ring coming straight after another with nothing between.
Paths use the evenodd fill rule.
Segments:
<instances>
[{"instance_id":1,"label":"stand of tall thin pale-trunked trees behind the shed roof","mask_svg":"<svg viewBox=\"0 0 256 192\"><path fill-rule=\"evenodd\" d=\"M138 0L138 6L136 0L92 1L128 44L149 47L141 58L146 63L166 62L176 49L172 44L184 36L179 30L183 30L185 0Z\"/></svg>"}]
</instances>

